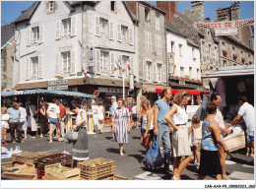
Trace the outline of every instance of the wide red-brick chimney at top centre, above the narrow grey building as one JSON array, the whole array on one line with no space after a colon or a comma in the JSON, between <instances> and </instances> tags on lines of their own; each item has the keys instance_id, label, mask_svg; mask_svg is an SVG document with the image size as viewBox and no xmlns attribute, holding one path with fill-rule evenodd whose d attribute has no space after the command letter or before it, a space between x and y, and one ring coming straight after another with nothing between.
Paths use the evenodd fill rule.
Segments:
<instances>
[{"instance_id":1,"label":"wide red-brick chimney at top centre, above the narrow grey building","mask_svg":"<svg viewBox=\"0 0 256 189\"><path fill-rule=\"evenodd\" d=\"M177 1L157 1L157 7L165 11L165 17L171 23L174 22L173 15L177 13Z\"/></svg>"}]
</instances>

